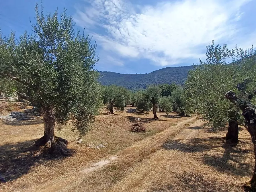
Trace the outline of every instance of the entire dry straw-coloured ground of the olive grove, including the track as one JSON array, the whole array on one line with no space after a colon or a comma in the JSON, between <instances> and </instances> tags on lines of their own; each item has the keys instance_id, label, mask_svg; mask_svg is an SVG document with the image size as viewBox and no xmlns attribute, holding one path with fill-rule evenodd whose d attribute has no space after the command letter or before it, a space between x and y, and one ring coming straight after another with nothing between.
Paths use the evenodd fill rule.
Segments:
<instances>
[{"instance_id":1,"label":"entire dry straw-coloured ground of the olive grove, including the track","mask_svg":"<svg viewBox=\"0 0 256 192\"><path fill-rule=\"evenodd\" d=\"M14 107L9 110L22 110ZM0 191L243 191L253 171L253 145L244 127L239 144L222 140L227 129L214 130L195 117L102 111L77 144L66 125L56 136L69 141L72 157L47 159L31 145L43 135L43 119L0 124L0 173L8 182ZM142 118L145 133L130 132ZM102 149L86 143L107 142Z\"/></svg>"}]
</instances>

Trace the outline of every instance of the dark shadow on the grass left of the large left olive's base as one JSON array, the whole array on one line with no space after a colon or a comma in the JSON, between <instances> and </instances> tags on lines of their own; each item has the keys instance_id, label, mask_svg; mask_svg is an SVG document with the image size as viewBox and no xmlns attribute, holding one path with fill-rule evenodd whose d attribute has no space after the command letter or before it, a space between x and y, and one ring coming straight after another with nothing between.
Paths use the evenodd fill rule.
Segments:
<instances>
[{"instance_id":1,"label":"dark shadow on the grass left of the large left olive's base","mask_svg":"<svg viewBox=\"0 0 256 192\"><path fill-rule=\"evenodd\" d=\"M35 140L4 144L0 146L0 182L8 182L28 173L33 166L50 160L60 160L43 156L34 144Z\"/></svg>"}]
</instances>

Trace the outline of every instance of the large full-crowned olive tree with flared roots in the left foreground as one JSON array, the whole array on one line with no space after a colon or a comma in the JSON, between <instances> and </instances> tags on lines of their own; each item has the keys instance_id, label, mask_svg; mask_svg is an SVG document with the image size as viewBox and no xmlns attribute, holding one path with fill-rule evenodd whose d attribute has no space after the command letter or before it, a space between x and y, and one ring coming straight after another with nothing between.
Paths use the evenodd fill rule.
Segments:
<instances>
[{"instance_id":1,"label":"large full-crowned olive tree with flared roots in the left foreground","mask_svg":"<svg viewBox=\"0 0 256 192\"><path fill-rule=\"evenodd\" d=\"M20 97L42 109L44 136L36 145L55 156L71 155L67 140L54 135L55 123L70 120L84 135L101 106L96 44L74 26L66 10L44 14L36 5L32 34L0 37L0 78L14 82Z\"/></svg>"}]
</instances>

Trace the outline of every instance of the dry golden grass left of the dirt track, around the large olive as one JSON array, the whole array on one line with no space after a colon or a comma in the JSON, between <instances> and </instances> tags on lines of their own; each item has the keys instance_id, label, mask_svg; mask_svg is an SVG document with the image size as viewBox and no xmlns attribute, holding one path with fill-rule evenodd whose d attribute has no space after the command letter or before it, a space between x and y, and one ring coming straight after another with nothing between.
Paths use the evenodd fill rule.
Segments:
<instances>
[{"instance_id":1,"label":"dry golden grass left of the dirt track, around the large olive","mask_svg":"<svg viewBox=\"0 0 256 192\"><path fill-rule=\"evenodd\" d=\"M22 111L23 109L19 110ZM77 132L71 132L70 125L63 127L61 130L56 130L56 136L67 139L69 148L77 151L74 156L63 159L45 159L38 156L37 151L31 148L34 141L43 135L44 124L42 118L15 124L1 122L0 173L5 179L10 180L7 183L0 184L1 190L36 191L36 189L43 189L46 186L57 185L62 179L70 178L72 181L77 171L87 164L107 158L139 140L187 119L186 117L169 119L160 116L162 121L156 122L152 120L151 116L153 117L153 114L151 113L149 115L126 112L115 113L116 115L101 113L97 116L93 128L83 138L85 144L89 142L108 142L108 147L101 150L86 148L85 144L79 145L73 142L79 135ZM161 114L163 113L159 113L159 115ZM138 117L148 120L147 131L145 133L129 132L128 130L133 124L131 119Z\"/></svg>"}]
</instances>

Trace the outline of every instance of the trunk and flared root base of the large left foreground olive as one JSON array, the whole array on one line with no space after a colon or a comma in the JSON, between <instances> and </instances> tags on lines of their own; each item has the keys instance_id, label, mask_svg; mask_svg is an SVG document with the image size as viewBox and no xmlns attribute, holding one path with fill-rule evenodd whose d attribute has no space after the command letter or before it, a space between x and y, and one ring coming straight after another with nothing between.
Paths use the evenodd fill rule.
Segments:
<instances>
[{"instance_id":1,"label":"trunk and flared root base of the large left foreground olive","mask_svg":"<svg viewBox=\"0 0 256 192\"><path fill-rule=\"evenodd\" d=\"M44 136L36 141L36 146L44 146L43 152L52 156L69 156L73 152L67 148L68 141L54 135L55 116L52 106L44 106Z\"/></svg>"}]
</instances>

